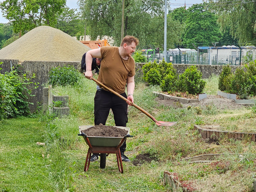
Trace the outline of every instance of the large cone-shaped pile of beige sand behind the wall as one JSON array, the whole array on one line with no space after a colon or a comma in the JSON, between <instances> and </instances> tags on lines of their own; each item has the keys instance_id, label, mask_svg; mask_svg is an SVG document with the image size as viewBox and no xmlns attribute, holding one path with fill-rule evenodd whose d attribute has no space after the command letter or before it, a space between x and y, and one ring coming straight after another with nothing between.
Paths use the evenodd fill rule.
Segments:
<instances>
[{"instance_id":1,"label":"large cone-shaped pile of beige sand behind the wall","mask_svg":"<svg viewBox=\"0 0 256 192\"><path fill-rule=\"evenodd\" d=\"M81 61L90 48L59 29L40 26L0 50L1 59Z\"/></svg>"}]
</instances>

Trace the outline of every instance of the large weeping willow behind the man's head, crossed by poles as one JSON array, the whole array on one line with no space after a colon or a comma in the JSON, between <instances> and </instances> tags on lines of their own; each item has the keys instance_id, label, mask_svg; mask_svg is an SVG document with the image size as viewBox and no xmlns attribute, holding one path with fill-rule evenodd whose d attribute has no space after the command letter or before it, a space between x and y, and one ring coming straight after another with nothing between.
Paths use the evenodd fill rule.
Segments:
<instances>
[{"instance_id":1,"label":"large weeping willow behind the man's head, crossed by poles","mask_svg":"<svg viewBox=\"0 0 256 192\"><path fill-rule=\"evenodd\" d=\"M122 0L79 0L82 18L89 28L91 39L111 36L116 45L121 43ZM124 0L124 36L133 35L140 45L164 42L164 0ZM182 27L169 19L167 37L180 41ZM168 25L168 23L167 23ZM175 31L174 31L175 29ZM168 35L169 33L169 35ZM160 39L160 40L159 40Z\"/></svg>"}]
</instances>

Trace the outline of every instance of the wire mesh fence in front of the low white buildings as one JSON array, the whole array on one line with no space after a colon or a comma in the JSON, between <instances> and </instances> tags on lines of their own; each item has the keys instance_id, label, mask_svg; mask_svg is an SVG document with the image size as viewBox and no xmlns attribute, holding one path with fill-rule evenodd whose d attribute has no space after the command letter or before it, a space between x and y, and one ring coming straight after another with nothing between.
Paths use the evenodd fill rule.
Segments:
<instances>
[{"instance_id":1,"label":"wire mesh fence in front of the low white buildings","mask_svg":"<svg viewBox=\"0 0 256 192\"><path fill-rule=\"evenodd\" d=\"M154 49L143 49L142 54L147 62L160 62L164 52ZM197 65L243 65L256 60L256 47L228 46L198 46L195 49L175 48L166 52L166 62L173 64Z\"/></svg>"}]
</instances>

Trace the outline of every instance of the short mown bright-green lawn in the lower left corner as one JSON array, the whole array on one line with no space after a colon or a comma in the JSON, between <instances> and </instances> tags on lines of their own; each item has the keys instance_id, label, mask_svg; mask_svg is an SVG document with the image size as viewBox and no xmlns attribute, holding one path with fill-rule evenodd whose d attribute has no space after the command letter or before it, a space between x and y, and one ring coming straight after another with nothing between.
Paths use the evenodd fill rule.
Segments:
<instances>
[{"instance_id":1,"label":"short mown bright-green lawn in the lower left corner","mask_svg":"<svg viewBox=\"0 0 256 192\"><path fill-rule=\"evenodd\" d=\"M1 191L54 191L49 158L43 146L44 123L19 117L0 124ZM45 156L45 158L42 156Z\"/></svg>"}]
</instances>

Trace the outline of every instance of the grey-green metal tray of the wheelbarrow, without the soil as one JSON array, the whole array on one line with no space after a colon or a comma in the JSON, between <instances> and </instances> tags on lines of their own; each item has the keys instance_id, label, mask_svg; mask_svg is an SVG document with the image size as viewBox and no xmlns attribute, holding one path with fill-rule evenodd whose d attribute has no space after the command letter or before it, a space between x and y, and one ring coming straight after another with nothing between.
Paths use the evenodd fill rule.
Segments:
<instances>
[{"instance_id":1,"label":"grey-green metal tray of the wheelbarrow, without the soil","mask_svg":"<svg viewBox=\"0 0 256 192\"><path fill-rule=\"evenodd\" d=\"M90 127L93 127L94 125L82 125L79 126L79 133L81 134L82 130L89 129ZM124 129L127 132L127 135L130 134L130 128L128 127L121 127L121 126L114 126L120 129ZM86 141L86 138L83 136L86 144L88 145L88 142ZM121 140L124 137L95 137L95 136L87 136L92 146L100 146L100 147L117 147Z\"/></svg>"}]
</instances>

